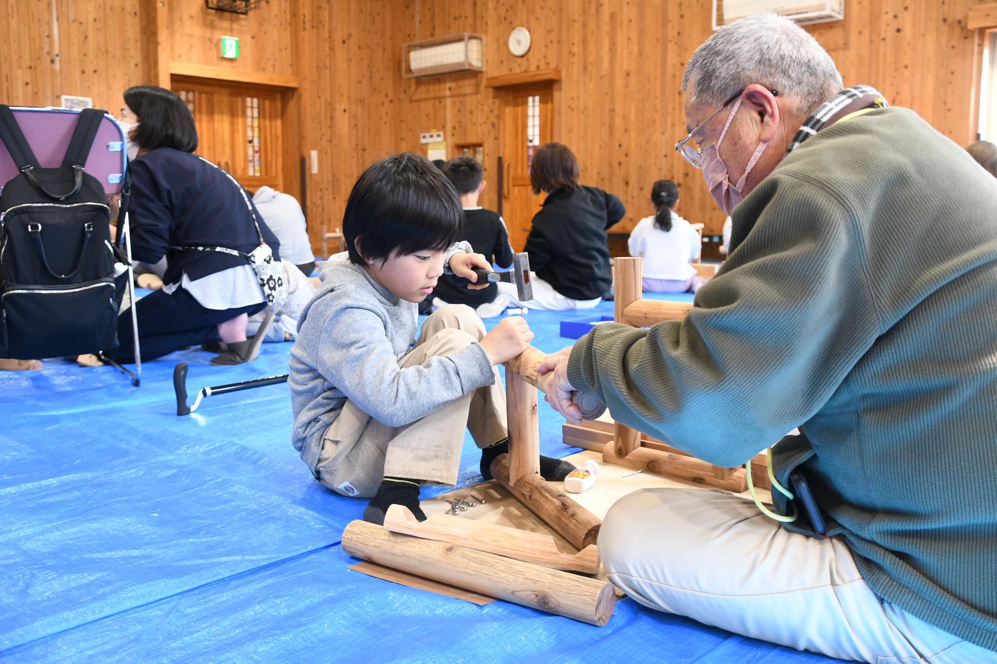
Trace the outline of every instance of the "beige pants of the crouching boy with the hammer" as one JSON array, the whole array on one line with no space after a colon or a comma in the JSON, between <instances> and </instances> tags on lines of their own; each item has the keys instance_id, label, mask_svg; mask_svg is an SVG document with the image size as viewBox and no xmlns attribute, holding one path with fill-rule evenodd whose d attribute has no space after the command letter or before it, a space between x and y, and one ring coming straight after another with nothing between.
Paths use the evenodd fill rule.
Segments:
<instances>
[{"instance_id":1,"label":"beige pants of the crouching boy with the hammer","mask_svg":"<svg viewBox=\"0 0 997 664\"><path fill-rule=\"evenodd\" d=\"M403 369L425 364L477 343L485 325L463 304L441 307L423 323L416 346L399 361ZM388 427L353 402L326 430L315 468L319 481L343 496L370 498L385 476L454 486L460 471L464 430L479 448L506 436L505 393L501 381L456 399L404 427Z\"/></svg>"}]
</instances>

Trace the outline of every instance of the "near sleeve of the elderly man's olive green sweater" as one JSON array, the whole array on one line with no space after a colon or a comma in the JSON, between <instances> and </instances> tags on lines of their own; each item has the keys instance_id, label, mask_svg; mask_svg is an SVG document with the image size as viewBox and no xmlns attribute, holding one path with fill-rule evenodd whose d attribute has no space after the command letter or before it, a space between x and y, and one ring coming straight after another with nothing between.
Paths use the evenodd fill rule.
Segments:
<instances>
[{"instance_id":1,"label":"near sleeve of the elderly man's olive green sweater","mask_svg":"<svg viewBox=\"0 0 997 664\"><path fill-rule=\"evenodd\" d=\"M754 227L683 321L597 326L568 362L616 421L723 467L815 414L878 333L853 213L792 176L756 193L736 210Z\"/></svg>"}]
</instances>

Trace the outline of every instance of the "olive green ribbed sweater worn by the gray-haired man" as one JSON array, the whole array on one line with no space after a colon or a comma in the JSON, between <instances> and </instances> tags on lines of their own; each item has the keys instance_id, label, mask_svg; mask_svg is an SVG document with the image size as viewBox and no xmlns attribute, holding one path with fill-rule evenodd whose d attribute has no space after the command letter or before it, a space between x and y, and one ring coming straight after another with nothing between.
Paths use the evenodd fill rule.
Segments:
<instances>
[{"instance_id":1,"label":"olive green ribbed sweater worn by the gray-haired man","mask_svg":"<svg viewBox=\"0 0 997 664\"><path fill-rule=\"evenodd\" d=\"M684 321L596 327L571 384L718 466L799 426L777 479L800 468L872 589L997 650L997 180L881 109L797 148L733 224Z\"/></svg>"}]
</instances>

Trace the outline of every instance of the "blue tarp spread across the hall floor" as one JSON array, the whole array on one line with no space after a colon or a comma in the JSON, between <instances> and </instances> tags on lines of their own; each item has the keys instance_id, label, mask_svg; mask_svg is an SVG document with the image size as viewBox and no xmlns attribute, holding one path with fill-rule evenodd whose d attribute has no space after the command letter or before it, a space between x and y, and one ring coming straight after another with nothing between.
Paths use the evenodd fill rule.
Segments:
<instances>
[{"instance_id":1,"label":"blue tarp spread across the hall floor","mask_svg":"<svg viewBox=\"0 0 997 664\"><path fill-rule=\"evenodd\" d=\"M560 315L527 320L537 347L569 345ZM364 501L326 491L298 460L285 385L175 415L175 363L190 365L192 395L285 373L289 351L266 344L227 368L177 352L148 363L138 389L61 360L0 372L0 659L827 661L629 599L596 628L347 571L340 535ZM560 424L541 410L548 456L575 451ZM480 481L478 458L468 438L462 484Z\"/></svg>"}]
</instances>

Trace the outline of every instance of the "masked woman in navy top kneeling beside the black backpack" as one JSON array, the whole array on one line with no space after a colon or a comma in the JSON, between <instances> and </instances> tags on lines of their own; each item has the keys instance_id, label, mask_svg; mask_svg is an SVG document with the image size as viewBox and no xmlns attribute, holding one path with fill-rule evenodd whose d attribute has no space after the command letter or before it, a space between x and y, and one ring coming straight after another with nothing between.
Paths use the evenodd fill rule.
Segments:
<instances>
[{"instance_id":1,"label":"masked woman in navy top kneeling beside the black backpack","mask_svg":"<svg viewBox=\"0 0 997 664\"><path fill-rule=\"evenodd\" d=\"M221 351L213 364L252 360L266 330L246 339L246 320L266 306L266 295L246 254L265 242L279 264L276 236L231 175L193 154L193 118L174 93L130 88L121 119L132 255L158 268L166 284L135 305L142 359L204 345ZM118 338L107 357L131 362L131 316L121 318Z\"/></svg>"}]
</instances>

